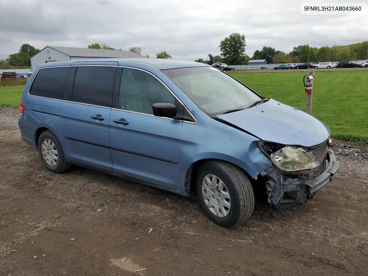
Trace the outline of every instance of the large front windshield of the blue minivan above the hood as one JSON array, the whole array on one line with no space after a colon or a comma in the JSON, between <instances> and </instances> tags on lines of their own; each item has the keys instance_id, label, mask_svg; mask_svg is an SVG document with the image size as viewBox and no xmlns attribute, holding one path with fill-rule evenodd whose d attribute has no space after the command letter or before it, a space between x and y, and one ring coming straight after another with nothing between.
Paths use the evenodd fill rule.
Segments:
<instances>
[{"instance_id":1,"label":"large front windshield of the blue minivan above the hood","mask_svg":"<svg viewBox=\"0 0 368 276\"><path fill-rule=\"evenodd\" d=\"M261 98L213 67L189 67L162 72L210 117L247 108Z\"/></svg>"}]
</instances>

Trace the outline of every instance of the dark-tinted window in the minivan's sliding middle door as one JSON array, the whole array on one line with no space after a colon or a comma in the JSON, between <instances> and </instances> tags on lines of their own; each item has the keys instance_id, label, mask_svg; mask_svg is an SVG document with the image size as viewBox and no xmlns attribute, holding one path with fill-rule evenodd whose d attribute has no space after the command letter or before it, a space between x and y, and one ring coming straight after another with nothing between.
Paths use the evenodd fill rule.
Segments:
<instances>
[{"instance_id":1,"label":"dark-tinted window in the minivan's sliding middle door","mask_svg":"<svg viewBox=\"0 0 368 276\"><path fill-rule=\"evenodd\" d=\"M72 102L111 107L117 67L78 67Z\"/></svg>"}]
</instances>

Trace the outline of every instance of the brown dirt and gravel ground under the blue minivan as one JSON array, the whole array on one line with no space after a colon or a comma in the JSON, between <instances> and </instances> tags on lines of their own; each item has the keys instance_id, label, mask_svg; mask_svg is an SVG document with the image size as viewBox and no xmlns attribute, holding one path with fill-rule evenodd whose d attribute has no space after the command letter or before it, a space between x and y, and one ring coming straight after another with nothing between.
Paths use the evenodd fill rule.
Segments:
<instances>
[{"instance_id":1,"label":"brown dirt and gravel ground under the blue minivan","mask_svg":"<svg viewBox=\"0 0 368 276\"><path fill-rule=\"evenodd\" d=\"M258 199L247 223L225 229L194 196L46 171L17 118L0 107L1 276L368 275L367 163L340 157L306 205L271 217Z\"/></svg>"}]
</instances>

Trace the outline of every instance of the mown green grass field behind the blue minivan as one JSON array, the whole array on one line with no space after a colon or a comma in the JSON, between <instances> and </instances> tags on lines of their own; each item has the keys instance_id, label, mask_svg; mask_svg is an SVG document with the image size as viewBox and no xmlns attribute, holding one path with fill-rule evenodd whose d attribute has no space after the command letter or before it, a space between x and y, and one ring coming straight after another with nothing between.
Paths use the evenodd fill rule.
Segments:
<instances>
[{"instance_id":1,"label":"mown green grass field behind the blue minivan","mask_svg":"<svg viewBox=\"0 0 368 276\"><path fill-rule=\"evenodd\" d=\"M231 73L256 92L305 111L306 72ZM333 138L368 145L368 71L316 71L312 115ZM0 86L0 105L18 107L24 85ZM302 122L301 122L302 124Z\"/></svg>"}]
</instances>

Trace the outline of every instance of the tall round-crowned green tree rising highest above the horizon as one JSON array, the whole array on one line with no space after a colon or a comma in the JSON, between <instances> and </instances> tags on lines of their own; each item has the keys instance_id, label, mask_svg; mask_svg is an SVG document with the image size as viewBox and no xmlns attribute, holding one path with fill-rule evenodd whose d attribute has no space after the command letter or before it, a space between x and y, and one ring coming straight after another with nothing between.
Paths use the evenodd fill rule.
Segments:
<instances>
[{"instance_id":1,"label":"tall round-crowned green tree rising highest above the horizon","mask_svg":"<svg viewBox=\"0 0 368 276\"><path fill-rule=\"evenodd\" d=\"M220 42L221 56L228 60L230 65L239 64L245 54L245 35L231 33Z\"/></svg>"}]
</instances>

